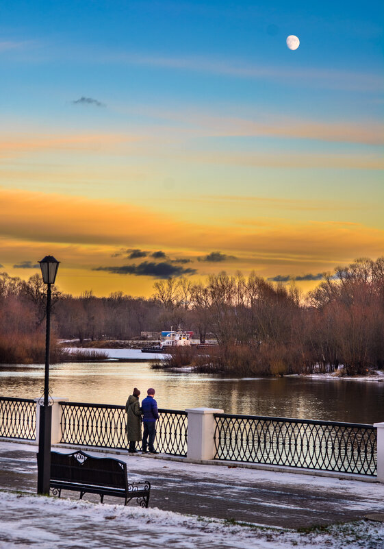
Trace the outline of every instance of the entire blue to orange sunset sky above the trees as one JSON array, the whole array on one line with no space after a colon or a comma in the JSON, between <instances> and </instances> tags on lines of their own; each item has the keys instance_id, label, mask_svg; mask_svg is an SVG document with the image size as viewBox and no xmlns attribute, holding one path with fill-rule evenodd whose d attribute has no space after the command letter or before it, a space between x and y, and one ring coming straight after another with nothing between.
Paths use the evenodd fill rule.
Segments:
<instances>
[{"instance_id":1,"label":"entire blue to orange sunset sky above the trees","mask_svg":"<svg viewBox=\"0 0 384 549\"><path fill-rule=\"evenodd\" d=\"M53 255L66 293L148 297L383 256L383 11L3 0L0 270Z\"/></svg>"}]
</instances>

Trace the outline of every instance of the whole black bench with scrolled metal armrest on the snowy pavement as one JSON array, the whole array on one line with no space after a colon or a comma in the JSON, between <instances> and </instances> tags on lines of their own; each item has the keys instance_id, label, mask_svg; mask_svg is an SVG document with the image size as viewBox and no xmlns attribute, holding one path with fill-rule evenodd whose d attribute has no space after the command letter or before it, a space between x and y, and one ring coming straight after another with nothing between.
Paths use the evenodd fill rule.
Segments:
<instances>
[{"instance_id":1,"label":"whole black bench with scrolled metal armrest on the snowy pavement","mask_svg":"<svg viewBox=\"0 0 384 549\"><path fill-rule=\"evenodd\" d=\"M140 507L148 507L151 483L128 483L127 463L114 458L97 458L80 450L73 454L51 452L50 488L53 496L62 490L97 493L100 502L104 496L125 498L125 505L136 499Z\"/></svg>"}]
</instances>

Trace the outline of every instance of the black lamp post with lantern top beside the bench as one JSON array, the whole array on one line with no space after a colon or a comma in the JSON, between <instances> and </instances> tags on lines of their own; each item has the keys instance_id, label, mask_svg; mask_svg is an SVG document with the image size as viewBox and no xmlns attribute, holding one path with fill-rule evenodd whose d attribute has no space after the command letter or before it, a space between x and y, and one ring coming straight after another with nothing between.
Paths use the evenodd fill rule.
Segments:
<instances>
[{"instance_id":1,"label":"black lamp post with lantern top beside the bench","mask_svg":"<svg viewBox=\"0 0 384 549\"><path fill-rule=\"evenodd\" d=\"M51 285L55 283L60 261L45 256L39 261L42 280L47 284L47 329L45 332L44 400L40 406L38 439L38 493L49 494L51 474L51 423L52 408L49 406L49 343L51 339Z\"/></svg>"}]
</instances>

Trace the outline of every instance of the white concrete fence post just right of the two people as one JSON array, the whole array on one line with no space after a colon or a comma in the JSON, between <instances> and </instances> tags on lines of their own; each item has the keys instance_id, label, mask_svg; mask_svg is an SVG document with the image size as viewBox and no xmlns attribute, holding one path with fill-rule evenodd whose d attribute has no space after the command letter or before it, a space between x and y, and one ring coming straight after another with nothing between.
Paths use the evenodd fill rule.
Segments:
<instances>
[{"instance_id":1,"label":"white concrete fence post just right of the two people","mask_svg":"<svg viewBox=\"0 0 384 549\"><path fill-rule=\"evenodd\" d=\"M214 414L223 413L216 408L188 408L188 452L187 459L203 461L214 459L216 454Z\"/></svg>"}]
</instances>

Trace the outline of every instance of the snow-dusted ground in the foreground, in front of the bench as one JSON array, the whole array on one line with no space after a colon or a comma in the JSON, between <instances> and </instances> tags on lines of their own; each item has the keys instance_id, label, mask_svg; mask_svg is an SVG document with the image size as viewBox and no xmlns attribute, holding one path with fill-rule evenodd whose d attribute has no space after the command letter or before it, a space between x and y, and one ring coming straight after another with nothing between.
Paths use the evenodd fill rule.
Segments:
<instances>
[{"instance_id":1,"label":"snow-dusted ground in the foreground, in front of the bench","mask_svg":"<svg viewBox=\"0 0 384 549\"><path fill-rule=\"evenodd\" d=\"M0 510L0 549L381 549L384 541L384 524L379 522L297 532L4 491Z\"/></svg>"}]
</instances>

